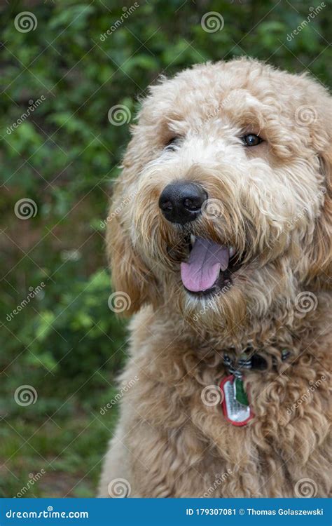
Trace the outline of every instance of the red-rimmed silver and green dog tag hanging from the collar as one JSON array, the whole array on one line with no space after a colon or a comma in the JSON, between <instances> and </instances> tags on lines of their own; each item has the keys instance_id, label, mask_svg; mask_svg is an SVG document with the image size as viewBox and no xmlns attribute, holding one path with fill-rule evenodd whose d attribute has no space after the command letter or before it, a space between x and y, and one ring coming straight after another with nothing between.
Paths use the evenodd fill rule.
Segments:
<instances>
[{"instance_id":1,"label":"red-rimmed silver and green dog tag hanging from the collar","mask_svg":"<svg viewBox=\"0 0 332 526\"><path fill-rule=\"evenodd\" d=\"M243 389L241 379L235 379L230 375L221 380L220 389L223 393L221 405L226 420L233 426L245 426L254 417L250 405L239 401L247 402L247 394Z\"/></svg>"}]
</instances>

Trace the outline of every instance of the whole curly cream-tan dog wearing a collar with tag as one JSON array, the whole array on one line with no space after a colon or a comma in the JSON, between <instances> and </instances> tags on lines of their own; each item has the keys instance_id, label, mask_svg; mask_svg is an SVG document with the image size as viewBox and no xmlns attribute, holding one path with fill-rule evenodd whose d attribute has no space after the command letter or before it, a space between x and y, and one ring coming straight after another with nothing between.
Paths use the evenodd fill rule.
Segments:
<instances>
[{"instance_id":1,"label":"whole curly cream-tan dog wearing a collar with tag","mask_svg":"<svg viewBox=\"0 0 332 526\"><path fill-rule=\"evenodd\" d=\"M99 497L331 495L331 122L250 58L150 88L106 236L135 315Z\"/></svg>"}]
</instances>

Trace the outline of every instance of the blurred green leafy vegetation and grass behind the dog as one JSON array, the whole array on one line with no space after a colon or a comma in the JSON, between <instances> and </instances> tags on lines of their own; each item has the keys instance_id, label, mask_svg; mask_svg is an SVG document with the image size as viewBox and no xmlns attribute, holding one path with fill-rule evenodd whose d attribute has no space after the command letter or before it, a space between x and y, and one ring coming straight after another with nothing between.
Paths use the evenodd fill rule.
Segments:
<instances>
[{"instance_id":1,"label":"blurred green leafy vegetation and grass behind the dog","mask_svg":"<svg viewBox=\"0 0 332 526\"><path fill-rule=\"evenodd\" d=\"M139 0L129 15L134 2L9 4L0 8L0 495L15 496L43 469L26 497L92 497L116 421L116 407L99 409L126 353L125 326L108 306L102 220L129 126L112 125L109 109L124 104L134 116L159 74L240 55L328 83L331 1L291 39L318 2ZM38 22L29 32L15 28L22 11ZM209 11L223 16L222 30L202 29ZM22 198L36 203L29 220L15 215ZM25 384L38 398L22 406L14 394Z\"/></svg>"}]
</instances>

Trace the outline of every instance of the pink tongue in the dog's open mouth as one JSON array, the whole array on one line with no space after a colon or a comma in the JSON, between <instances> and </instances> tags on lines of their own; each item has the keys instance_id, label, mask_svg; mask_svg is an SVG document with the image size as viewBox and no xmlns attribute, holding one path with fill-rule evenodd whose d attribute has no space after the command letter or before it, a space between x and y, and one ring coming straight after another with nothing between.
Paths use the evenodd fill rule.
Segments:
<instances>
[{"instance_id":1,"label":"pink tongue in the dog's open mouth","mask_svg":"<svg viewBox=\"0 0 332 526\"><path fill-rule=\"evenodd\" d=\"M187 263L181 263L181 280L191 292L212 288L220 270L228 267L229 251L210 239L196 238Z\"/></svg>"}]
</instances>

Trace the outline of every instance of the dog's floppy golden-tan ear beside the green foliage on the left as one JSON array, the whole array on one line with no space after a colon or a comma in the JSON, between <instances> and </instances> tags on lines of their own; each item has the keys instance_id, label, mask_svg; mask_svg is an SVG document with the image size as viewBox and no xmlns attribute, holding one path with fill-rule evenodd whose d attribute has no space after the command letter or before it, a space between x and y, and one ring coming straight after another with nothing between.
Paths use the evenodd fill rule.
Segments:
<instances>
[{"instance_id":1,"label":"dog's floppy golden-tan ear beside the green foliage on the left","mask_svg":"<svg viewBox=\"0 0 332 526\"><path fill-rule=\"evenodd\" d=\"M125 309L121 310L125 316L138 311L143 304L152 301L155 279L132 246L130 223L125 210L132 204L123 205L126 197L122 177L123 175L116 183L113 204L109 211L106 245L111 264L113 289L119 292L119 298L120 292L124 292L129 297L125 298Z\"/></svg>"}]
</instances>

